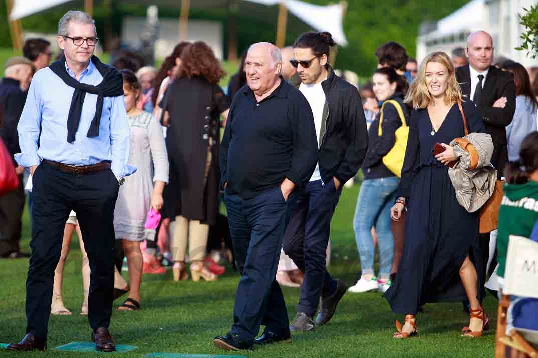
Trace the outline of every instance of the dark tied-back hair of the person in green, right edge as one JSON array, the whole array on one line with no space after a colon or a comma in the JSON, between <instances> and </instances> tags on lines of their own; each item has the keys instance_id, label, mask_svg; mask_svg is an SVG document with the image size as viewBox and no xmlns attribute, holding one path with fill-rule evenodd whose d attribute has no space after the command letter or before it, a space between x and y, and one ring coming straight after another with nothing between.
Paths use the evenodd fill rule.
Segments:
<instances>
[{"instance_id":1,"label":"dark tied-back hair of the person in green, right edge","mask_svg":"<svg viewBox=\"0 0 538 358\"><path fill-rule=\"evenodd\" d=\"M508 184L525 184L530 174L538 170L538 131L527 135L521 142L520 160L510 162L505 167L505 178Z\"/></svg>"}]
</instances>

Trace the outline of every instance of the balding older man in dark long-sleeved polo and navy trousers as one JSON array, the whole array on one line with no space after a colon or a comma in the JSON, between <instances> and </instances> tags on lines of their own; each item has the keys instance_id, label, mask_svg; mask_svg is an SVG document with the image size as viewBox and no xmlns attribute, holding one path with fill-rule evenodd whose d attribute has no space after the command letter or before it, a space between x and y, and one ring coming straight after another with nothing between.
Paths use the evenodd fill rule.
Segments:
<instances>
[{"instance_id":1,"label":"balding older man in dark long-sleeved polo and navy trousers","mask_svg":"<svg viewBox=\"0 0 538 358\"><path fill-rule=\"evenodd\" d=\"M275 273L294 192L317 163L317 141L310 106L280 77L281 62L270 43L249 49L247 86L233 100L221 145L221 182L242 274L233 327L214 340L227 350L291 337ZM265 332L255 342L262 324Z\"/></svg>"}]
</instances>

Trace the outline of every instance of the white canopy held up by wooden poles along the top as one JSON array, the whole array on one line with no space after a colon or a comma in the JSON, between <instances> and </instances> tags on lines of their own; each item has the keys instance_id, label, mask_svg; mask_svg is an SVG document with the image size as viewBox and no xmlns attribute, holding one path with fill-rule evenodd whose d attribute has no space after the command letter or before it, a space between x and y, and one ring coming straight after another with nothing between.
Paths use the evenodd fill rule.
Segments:
<instances>
[{"instance_id":1,"label":"white canopy held up by wooden poles along the top","mask_svg":"<svg viewBox=\"0 0 538 358\"><path fill-rule=\"evenodd\" d=\"M14 0L13 10L11 11L9 18L11 21L19 20L71 1L73 0ZM158 6L171 6L171 2L169 1L134 0L131 2L147 3ZM330 32L332 39L334 39L338 45L348 45L348 41L345 38L342 27L344 10L346 6L345 3L329 6L317 6L307 4L299 0L240 0L239 2L263 5L265 7L283 4L294 17L312 27L313 30ZM223 2L219 0L193 0L190 6L192 8L211 8L226 6L227 3L228 1ZM179 4L180 1L176 1L176 6L179 6Z\"/></svg>"}]
</instances>

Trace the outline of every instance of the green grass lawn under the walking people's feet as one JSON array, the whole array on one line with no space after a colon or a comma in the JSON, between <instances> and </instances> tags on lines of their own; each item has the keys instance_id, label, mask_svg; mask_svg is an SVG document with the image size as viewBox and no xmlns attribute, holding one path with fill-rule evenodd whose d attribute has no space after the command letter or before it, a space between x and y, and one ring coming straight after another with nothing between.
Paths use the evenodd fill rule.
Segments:
<instances>
[{"instance_id":1,"label":"green grass lawn under the walking people's feet","mask_svg":"<svg viewBox=\"0 0 538 358\"><path fill-rule=\"evenodd\" d=\"M358 186L344 189L332 221L332 260L330 272L353 284L359 272L351 220ZM24 216L23 247L29 251L30 224ZM0 260L0 343L16 342L25 331L24 282L26 260ZM125 277L126 274L124 273ZM215 335L228 332L232 324L233 302L239 276L231 271L217 282L174 283L171 272L162 277L144 276L142 310L112 315L111 332L118 344L137 346L125 357L142 357L147 353L230 354L216 348ZM89 341L86 317L79 316L82 303L80 251L77 240L68 259L64 282L66 306L71 317L51 317L49 349L74 341ZM297 289L284 289L290 320L295 316ZM121 304L116 302L115 306ZM495 316L497 302L489 297L487 313ZM388 304L378 293L346 294L329 324L314 332L297 334L291 345L273 345L243 353L249 357L491 357L494 332L481 339L460 337L459 331L469 318L460 303L427 305L417 319L419 338L407 341L392 339L394 319ZM0 355L4 355L0 353ZM237 355L237 354L236 354ZM7 355L6 355L7 356ZM14 355L15 356L15 355ZM37 354L17 354L17 357ZM40 357L90 357L90 353L59 353L49 350Z\"/></svg>"}]
</instances>

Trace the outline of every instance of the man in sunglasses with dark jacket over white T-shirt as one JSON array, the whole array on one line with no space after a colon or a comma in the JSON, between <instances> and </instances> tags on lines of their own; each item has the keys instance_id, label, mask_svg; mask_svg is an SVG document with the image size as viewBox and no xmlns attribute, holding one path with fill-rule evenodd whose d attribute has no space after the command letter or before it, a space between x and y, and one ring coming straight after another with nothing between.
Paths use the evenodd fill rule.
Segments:
<instances>
[{"instance_id":1,"label":"man in sunglasses with dark jacket over white T-shirt","mask_svg":"<svg viewBox=\"0 0 538 358\"><path fill-rule=\"evenodd\" d=\"M302 34L290 60L291 79L314 114L319 161L308 184L297 194L296 208L284 235L284 252L304 273L297 314L289 327L311 331L334 315L344 295L343 281L325 268L330 222L346 181L357 174L368 147L366 119L357 89L337 77L328 63L335 42L329 33ZM321 309L314 315L321 297Z\"/></svg>"}]
</instances>

